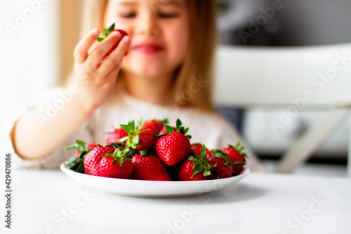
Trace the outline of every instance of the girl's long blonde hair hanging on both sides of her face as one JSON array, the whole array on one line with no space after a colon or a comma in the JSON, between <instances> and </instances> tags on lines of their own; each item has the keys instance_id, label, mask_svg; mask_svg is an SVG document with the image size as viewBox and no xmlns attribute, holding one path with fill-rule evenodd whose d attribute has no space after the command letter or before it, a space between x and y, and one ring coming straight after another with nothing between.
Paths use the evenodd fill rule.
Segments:
<instances>
[{"instance_id":1,"label":"girl's long blonde hair hanging on both sides of her face","mask_svg":"<svg viewBox=\"0 0 351 234\"><path fill-rule=\"evenodd\" d=\"M80 38L93 28L103 30L108 1L84 1ZM216 3L215 0L186 0L186 4L190 18L190 44L184 62L173 77L172 101L180 107L195 107L214 112L212 87L213 59L217 44ZM120 81L121 79L117 79L117 82ZM197 90L194 90L194 85L197 86Z\"/></svg>"}]
</instances>

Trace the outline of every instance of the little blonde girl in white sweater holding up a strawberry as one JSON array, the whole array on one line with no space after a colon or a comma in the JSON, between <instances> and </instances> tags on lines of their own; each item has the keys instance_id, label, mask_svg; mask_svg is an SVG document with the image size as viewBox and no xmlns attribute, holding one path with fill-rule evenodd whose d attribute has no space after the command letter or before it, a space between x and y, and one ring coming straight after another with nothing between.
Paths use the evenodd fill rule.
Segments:
<instances>
[{"instance_id":1,"label":"little blonde girl in white sweater holding up a strawberry","mask_svg":"<svg viewBox=\"0 0 351 234\"><path fill-rule=\"evenodd\" d=\"M18 167L57 168L72 157L65 149L76 139L104 145L112 125L140 116L167 118L171 125L179 118L190 127L192 143L207 148L240 141L211 103L214 0L84 2L85 36L74 50L72 79L4 128L6 151L14 152ZM112 23L128 36L116 32L98 43L100 30ZM256 156L246 153L248 166L260 170Z\"/></svg>"}]
</instances>

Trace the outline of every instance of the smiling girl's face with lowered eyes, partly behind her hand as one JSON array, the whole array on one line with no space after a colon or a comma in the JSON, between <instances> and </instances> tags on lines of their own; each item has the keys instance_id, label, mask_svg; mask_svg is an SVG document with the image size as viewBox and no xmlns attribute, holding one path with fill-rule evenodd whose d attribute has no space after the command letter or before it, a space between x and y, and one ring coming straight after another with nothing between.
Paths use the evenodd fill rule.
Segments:
<instances>
[{"instance_id":1,"label":"smiling girl's face with lowered eyes, partly behind her hand","mask_svg":"<svg viewBox=\"0 0 351 234\"><path fill-rule=\"evenodd\" d=\"M186 0L110 0L104 24L116 23L131 37L122 70L145 77L173 74L189 41Z\"/></svg>"}]
</instances>

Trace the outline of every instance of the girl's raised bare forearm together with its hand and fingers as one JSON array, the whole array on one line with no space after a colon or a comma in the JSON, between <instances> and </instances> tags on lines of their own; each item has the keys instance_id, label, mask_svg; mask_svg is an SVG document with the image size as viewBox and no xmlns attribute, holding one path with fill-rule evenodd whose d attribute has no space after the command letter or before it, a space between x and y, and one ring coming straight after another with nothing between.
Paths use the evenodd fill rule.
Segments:
<instances>
[{"instance_id":1,"label":"girl's raised bare forearm together with its hand and fingers","mask_svg":"<svg viewBox=\"0 0 351 234\"><path fill-rule=\"evenodd\" d=\"M75 48L77 93L72 99L48 119L45 118L48 107L42 107L27 112L16 122L11 140L20 157L39 159L49 155L112 96L121 62L131 41L129 37L121 39L118 32L112 33L88 53L99 35L99 30L93 30ZM119 46L105 58L117 43ZM55 100L52 106L54 103Z\"/></svg>"}]
</instances>

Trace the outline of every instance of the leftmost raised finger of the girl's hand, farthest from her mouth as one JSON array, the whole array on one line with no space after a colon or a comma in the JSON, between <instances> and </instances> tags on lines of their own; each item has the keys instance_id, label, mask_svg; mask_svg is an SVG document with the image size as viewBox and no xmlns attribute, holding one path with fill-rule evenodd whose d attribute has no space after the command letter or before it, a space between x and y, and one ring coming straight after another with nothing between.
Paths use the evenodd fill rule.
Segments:
<instances>
[{"instance_id":1,"label":"leftmost raised finger of the girl's hand, farthest from her mouth","mask_svg":"<svg viewBox=\"0 0 351 234\"><path fill-rule=\"evenodd\" d=\"M76 48L74 49L74 59L78 64L84 63L86 58L88 58L88 50L91 48L91 46L93 46L99 35L100 31L94 29L84 39L79 41Z\"/></svg>"}]
</instances>

